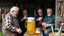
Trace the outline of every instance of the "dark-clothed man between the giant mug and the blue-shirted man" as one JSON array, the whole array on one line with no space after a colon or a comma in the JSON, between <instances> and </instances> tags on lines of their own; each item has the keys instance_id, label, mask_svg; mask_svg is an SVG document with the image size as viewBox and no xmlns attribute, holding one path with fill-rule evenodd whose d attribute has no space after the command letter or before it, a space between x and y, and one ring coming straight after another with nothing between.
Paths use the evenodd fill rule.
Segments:
<instances>
[{"instance_id":1,"label":"dark-clothed man between the giant mug and the blue-shirted man","mask_svg":"<svg viewBox=\"0 0 64 36\"><path fill-rule=\"evenodd\" d=\"M36 27L42 27L43 22L43 11L42 9L38 9L37 15L35 16L36 19Z\"/></svg>"}]
</instances>

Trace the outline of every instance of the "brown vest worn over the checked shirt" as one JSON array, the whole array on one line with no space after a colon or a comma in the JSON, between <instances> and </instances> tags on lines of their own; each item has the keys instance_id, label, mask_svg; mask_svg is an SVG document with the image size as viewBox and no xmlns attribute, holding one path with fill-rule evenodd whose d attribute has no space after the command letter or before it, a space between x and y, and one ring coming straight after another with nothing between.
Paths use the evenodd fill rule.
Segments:
<instances>
[{"instance_id":1,"label":"brown vest worn over the checked shirt","mask_svg":"<svg viewBox=\"0 0 64 36\"><path fill-rule=\"evenodd\" d=\"M6 16L10 16L10 14L8 13ZM18 20L15 18L15 17L12 17L12 26L16 27L16 28L19 28L19 23L18 23ZM4 21L3 21L4 22ZM5 36L15 36L16 33L13 33L13 32L10 32L8 30L6 30L6 26L5 24L2 24L2 33L5 34Z\"/></svg>"}]
</instances>

